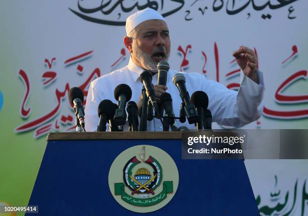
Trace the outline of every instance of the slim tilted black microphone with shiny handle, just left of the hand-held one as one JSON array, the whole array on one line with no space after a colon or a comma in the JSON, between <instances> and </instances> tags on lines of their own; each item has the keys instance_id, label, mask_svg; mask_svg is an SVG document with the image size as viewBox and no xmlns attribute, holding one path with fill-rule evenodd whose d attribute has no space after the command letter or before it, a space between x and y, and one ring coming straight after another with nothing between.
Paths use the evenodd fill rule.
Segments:
<instances>
[{"instance_id":1,"label":"slim tilted black microphone with shiny handle, just left of the hand-held one","mask_svg":"<svg viewBox=\"0 0 308 216\"><path fill-rule=\"evenodd\" d=\"M155 92L153 89L153 84L152 84L152 74L151 72L145 70L139 75L139 80L143 83L143 86L145 88L145 93L149 101L151 102L154 110L158 112L158 105L155 100Z\"/></svg>"}]
</instances>

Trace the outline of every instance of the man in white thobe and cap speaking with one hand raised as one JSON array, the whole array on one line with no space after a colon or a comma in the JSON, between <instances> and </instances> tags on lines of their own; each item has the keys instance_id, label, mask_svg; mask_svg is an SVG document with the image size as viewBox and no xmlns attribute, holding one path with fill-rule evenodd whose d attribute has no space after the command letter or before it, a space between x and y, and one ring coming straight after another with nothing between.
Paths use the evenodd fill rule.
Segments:
<instances>
[{"instance_id":1,"label":"man in white thobe and cap speaking with one hand raised","mask_svg":"<svg viewBox=\"0 0 308 216\"><path fill-rule=\"evenodd\" d=\"M173 84L172 77L178 71L170 69L167 76L167 84L156 85L157 64L162 60L168 60L170 56L171 39L166 20L157 11L144 9L138 11L126 20L126 36L124 45L130 53L127 66L103 75L92 81L86 103L85 125L87 131L96 131L99 123L98 105L104 99L114 99L114 89L119 84L127 84L132 90L131 100L140 106L140 93L143 84L138 79L144 70L153 74L155 96L159 102L164 92L171 94L174 113L179 117L182 103L177 87ZM186 78L187 91L192 94L195 91L204 91L208 95L208 110L212 114L212 121L224 126L243 126L257 120L263 110L262 99L264 82L262 72L257 67L257 56L250 48L241 46L234 51L233 56L244 73L244 79L239 91L229 90L224 85L207 79L200 73L181 72ZM180 123L177 127L186 126L194 129L188 121ZM127 123L124 131L128 130ZM160 120L154 118L147 122L148 131L163 131Z\"/></svg>"}]
</instances>

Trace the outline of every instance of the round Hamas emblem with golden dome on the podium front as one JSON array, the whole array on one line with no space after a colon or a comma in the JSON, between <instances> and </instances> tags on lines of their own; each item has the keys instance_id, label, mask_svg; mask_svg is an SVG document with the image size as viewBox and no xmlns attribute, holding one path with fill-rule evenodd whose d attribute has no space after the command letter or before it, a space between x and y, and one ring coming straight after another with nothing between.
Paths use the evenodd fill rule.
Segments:
<instances>
[{"instance_id":1,"label":"round Hamas emblem with golden dome on the podium front","mask_svg":"<svg viewBox=\"0 0 308 216\"><path fill-rule=\"evenodd\" d=\"M137 152L140 153L135 152L134 155L131 155L128 161L123 163L121 169L113 169L117 159L119 159L125 151L132 148L139 150ZM120 204L125 202L126 204L124 204L124 207L130 206L130 210L137 212L157 210L171 200L177 189L179 174L176 165L166 152L157 147L135 146L129 149L122 152L115 159L110 168L110 190L116 200ZM150 151L151 149L155 149L156 151ZM162 156L162 154L157 154L158 150L164 153L164 157L161 158L160 156ZM166 161L166 158L172 160L173 163ZM165 164L167 165L166 167ZM170 165L174 165L175 167ZM170 168L172 168L172 170L169 170ZM114 181L113 188L110 182L112 181L110 177L110 175L112 175L111 172L120 172L120 174L122 174L121 181ZM166 174L174 172L176 178L172 178L170 174L169 176L165 176L165 172ZM176 182L174 182L174 180ZM119 200L119 198L121 200ZM158 203L163 203L163 205L160 204L160 206L155 207ZM154 208L145 209L145 207L150 206ZM138 211L136 207L140 207L142 210Z\"/></svg>"}]
</instances>

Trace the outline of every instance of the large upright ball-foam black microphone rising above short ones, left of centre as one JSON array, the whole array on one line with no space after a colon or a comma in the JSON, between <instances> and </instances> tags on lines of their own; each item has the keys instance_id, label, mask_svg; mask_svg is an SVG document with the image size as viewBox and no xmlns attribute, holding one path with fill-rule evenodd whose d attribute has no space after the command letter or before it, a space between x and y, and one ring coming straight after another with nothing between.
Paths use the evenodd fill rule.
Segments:
<instances>
[{"instance_id":1,"label":"large upright ball-foam black microphone rising above short ones, left of centre","mask_svg":"<svg viewBox=\"0 0 308 216\"><path fill-rule=\"evenodd\" d=\"M131 88L126 84L120 84L114 89L114 98L118 101L118 108L115 110L114 122L117 125L125 125L126 102L131 98Z\"/></svg>"}]
</instances>

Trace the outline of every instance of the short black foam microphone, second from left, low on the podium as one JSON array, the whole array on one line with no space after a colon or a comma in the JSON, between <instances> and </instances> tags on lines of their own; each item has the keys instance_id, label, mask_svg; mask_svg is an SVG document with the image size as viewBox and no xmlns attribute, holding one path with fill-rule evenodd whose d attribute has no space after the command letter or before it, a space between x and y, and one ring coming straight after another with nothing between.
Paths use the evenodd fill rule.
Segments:
<instances>
[{"instance_id":1,"label":"short black foam microphone, second from left, low on the podium","mask_svg":"<svg viewBox=\"0 0 308 216\"><path fill-rule=\"evenodd\" d=\"M106 124L110 117L113 117L112 113L113 102L111 100L102 100L98 106L97 113L100 118L99 125L97 127L98 132L106 131Z\"/></svg>"}]
</instances>

